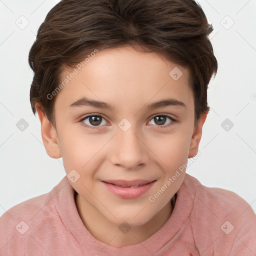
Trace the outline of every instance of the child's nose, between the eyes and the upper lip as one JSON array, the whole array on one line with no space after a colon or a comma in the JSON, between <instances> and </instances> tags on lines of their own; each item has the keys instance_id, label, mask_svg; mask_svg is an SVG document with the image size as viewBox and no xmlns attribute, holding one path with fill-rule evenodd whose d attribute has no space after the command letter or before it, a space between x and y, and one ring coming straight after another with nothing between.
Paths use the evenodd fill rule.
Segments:
<instances>
[{"instance_id":1,"label":"child's nose, between the eyes and the upper lip","mask_svg":"<svg viewBox=\"0 0 256 256\"><path fill-rule=\"evenodd\" d=\"M110 160L113 165L122 166L125 169L135 169L147 164L149 150L134 126L127 131L117 128L110 152Z\"/></svg>"}]
</instances>

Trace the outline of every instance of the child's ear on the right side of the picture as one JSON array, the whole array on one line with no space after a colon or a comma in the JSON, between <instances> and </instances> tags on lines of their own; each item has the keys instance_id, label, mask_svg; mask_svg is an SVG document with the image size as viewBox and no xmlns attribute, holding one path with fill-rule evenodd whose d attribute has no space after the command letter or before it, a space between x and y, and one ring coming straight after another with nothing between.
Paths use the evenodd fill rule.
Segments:
<instances>
[{"instance_id":1,"label":"child's ear on the right side of the picture","mask_svg":"<svg viewBox=\"0 0 256 256\"><path fill-rule=\"evenodd\" d=\"M194 157L198 152L198 146L202 136L202 125L205 122L207 113L208 112L205 112L199 117L198 124L194 127L194 132L189 146L188 158Z\"/></svg>"}]
</instances>

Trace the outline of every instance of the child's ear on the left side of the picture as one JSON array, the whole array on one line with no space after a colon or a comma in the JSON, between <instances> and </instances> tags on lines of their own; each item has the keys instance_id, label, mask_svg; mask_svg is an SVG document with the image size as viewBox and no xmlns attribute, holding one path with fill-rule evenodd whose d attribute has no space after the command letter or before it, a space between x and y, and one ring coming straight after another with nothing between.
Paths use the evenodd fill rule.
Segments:
<instances>
[{"instance_id":1,"label":"child's ear on the left side of the picture","mask_svg":"<svg viewBox=\"0 0 256 256\"><path fill-rule=\"evenodd\" d=\"M41 122L41 135L46 153L52 158L61 157L56 129L47 119L43 109L37 105L36 111Z\"/></svg>"}]
</instances>

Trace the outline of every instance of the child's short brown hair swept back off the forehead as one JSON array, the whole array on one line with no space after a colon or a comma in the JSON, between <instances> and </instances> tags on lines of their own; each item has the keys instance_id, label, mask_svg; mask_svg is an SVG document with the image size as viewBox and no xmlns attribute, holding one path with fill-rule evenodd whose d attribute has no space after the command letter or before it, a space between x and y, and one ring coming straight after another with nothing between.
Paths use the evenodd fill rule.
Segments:
<instances>
[{"instance_id":1,"label":"child's short brown hair swept back off the forehead","mask_svg":"<svg viewBox=\"0 0 256 256\"><path fill-rule=\"evenodd\" d=\"M194 0L61 0L46 15L29 51L32 111L39 104L55 126L54 98L47 94L59 84L64 66L73 67L95 48L139 45L189 68L197 124L209 111L208 83L217 72L208 38L212 30Z\"/></svg>"}]
</instances>

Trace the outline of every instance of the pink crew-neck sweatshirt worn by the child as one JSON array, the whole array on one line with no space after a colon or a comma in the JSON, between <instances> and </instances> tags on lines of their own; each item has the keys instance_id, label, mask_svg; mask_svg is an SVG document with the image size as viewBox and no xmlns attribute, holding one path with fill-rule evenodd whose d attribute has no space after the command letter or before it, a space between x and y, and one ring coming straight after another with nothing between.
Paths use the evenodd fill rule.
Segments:
<instances>
[{"instance_id":1,"label":"pink crew-neck sweatshirt worn by the child","mask_svg":"<svg viewBox=\"0 0 256 256\"><path fill-rule=\"evenodd\" d=\"M66 176L48 193L0 217L0 256L255 256L256 215L236 193L203 186L185 174L165 224L141 243L120 248L84 226Z\"/></svg>"}]
</instances>

